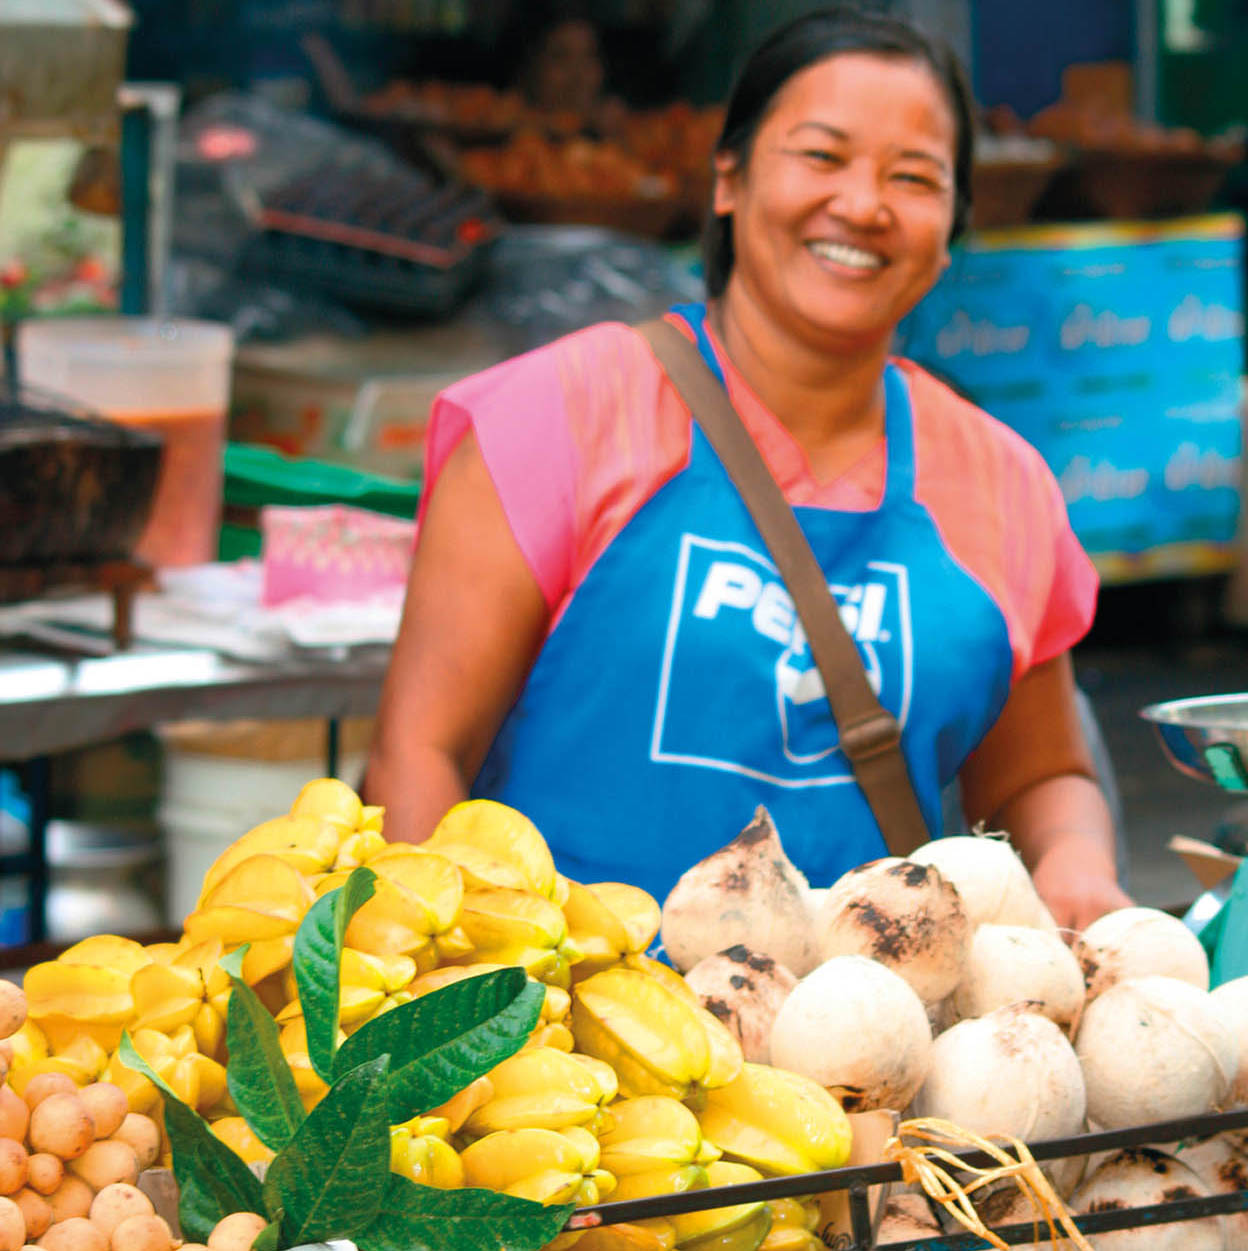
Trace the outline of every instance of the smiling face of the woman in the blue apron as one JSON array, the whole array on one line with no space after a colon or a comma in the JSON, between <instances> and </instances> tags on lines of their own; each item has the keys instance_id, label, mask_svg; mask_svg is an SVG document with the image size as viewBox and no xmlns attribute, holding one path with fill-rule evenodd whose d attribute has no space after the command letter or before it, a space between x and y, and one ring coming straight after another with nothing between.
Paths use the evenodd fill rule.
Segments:
<instances>
[{"instance_id":1,"label":"smiling face of the woman in the blue apron","mask_svg":"<svg viewBox=\"0 0 1248 1251\"><path fill-rule=\"evenodd\" d=\"M919 61L842 53L777 93L748 164L717 156L733 286L823 345L892 335L949 263L957 124Z\"/></svg>"}]
</instances>

